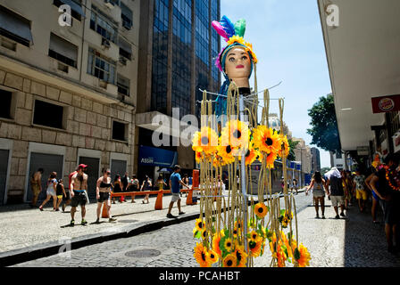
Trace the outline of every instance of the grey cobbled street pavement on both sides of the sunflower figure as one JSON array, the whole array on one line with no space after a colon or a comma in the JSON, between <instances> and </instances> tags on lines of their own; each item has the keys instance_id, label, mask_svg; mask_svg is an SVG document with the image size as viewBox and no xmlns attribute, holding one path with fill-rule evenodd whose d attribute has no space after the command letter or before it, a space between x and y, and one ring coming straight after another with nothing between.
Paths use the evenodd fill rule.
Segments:
<instances>
[{"instance_id":1,"label":"grey cobbled street pavement on both sides of the sunflower figure","mask_svg":"<svg viewBox=\"0 0 400 285\"><path fill-rule=\"evenodd\" d=\"M310 266L400 266L399 256L387 253L383 225L372 224L370 212L361 214L353 206L346 212L346 218L337 220L328 199L326 203L327 218L315 219L311 196L306 196L304 192L296 196L299 240L310 251ZM148 216L151 215L148 213ZM135 214L124 216L125 218L135 219ZM193 248L197 241L192 237L193 228L194 221L172 224L154 232L106 241L14 266L197 267L193 257ZM254 265L267 267L270 261L267 250L264 256L255 259Z\"/></svg>"}]
</instances>

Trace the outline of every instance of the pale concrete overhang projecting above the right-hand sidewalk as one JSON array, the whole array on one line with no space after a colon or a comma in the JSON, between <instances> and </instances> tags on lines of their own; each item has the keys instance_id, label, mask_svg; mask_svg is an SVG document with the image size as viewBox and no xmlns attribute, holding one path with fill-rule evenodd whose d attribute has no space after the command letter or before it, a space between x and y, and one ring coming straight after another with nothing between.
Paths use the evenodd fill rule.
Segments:
<instances>
[{"instance_id":1,"label":"pale concrete overhang projecting above the right-hand sidewalk","mask_svg":"<svg viewBox=\"0 0 400 285\"><path fill-rule=\"evenodd\" d=\"M384 114L372 112L372 97L400 94L400 1L318 0L322 33L344 151L368 146L371 126ZM338 27L329 26L330 4Z\"/></svg>"}]
</instances>

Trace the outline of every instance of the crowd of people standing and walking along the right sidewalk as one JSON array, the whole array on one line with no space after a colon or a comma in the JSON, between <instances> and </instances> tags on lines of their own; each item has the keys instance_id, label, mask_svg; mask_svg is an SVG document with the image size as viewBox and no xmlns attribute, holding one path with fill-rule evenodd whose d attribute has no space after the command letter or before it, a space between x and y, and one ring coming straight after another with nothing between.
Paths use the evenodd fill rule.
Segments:
<instances>
[{"instance_id":1,"label":"crowd of people standing and walking along the right sidewalk","mask_svg":"<svg viewBox=\"0 0 400 285\"><path fill-rule=\"evenodd\" d=\"M391 253L400 251L400 167L399 158L395 154L388 154L385 163L371 167L371 174L364 175L360 169L355 175L332 167L324 176L316 172L305 194L312 190L316 218L325 218L325 197L332 202L335 209L335 218L346 216L345 210L354 205L361 213L366 212L368 201L371 198L371 216L373 224L379 224L377 211L381 208L385 223L387 250ZM339 214L340 209L340 214ZM339 216L340 215L340 216Z\"/></svg>"}]
</instances>

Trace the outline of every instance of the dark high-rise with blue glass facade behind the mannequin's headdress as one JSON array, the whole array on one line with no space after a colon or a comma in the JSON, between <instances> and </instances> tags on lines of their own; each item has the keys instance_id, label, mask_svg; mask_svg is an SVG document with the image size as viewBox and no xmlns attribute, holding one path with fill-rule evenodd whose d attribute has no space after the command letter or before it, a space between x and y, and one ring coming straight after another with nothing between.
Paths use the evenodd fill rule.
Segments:
<instances>
[{"instance_id":1,"label":"dark high-rise with blue glass facade behind the mannequin's headdress","mask_svg":"<svg viewBox=\"0 0 400 285\"><path fill-rule=\"evenodd\" d=\"M196 100L202 90L218 92L221 82L214 58L220 37L212 20L220 19L220 0L146 0L140 2L140 35L137 74L137 174L156 176L178 163L183 171L195 167L194 152L173 134L179 119L199 115ZM173 110L179 109L178 114ZM155 147L155 116L168 116L170 146ZM174 119L172 119L174 118ZM178 125L179 126L179 125ZM179 133L179 132L178 132ZM179 145L177 145L179 142ZM162 169L167 168L167 169ZM154 177L156 178L156 177Z\"/></svg>"}]
</instances>

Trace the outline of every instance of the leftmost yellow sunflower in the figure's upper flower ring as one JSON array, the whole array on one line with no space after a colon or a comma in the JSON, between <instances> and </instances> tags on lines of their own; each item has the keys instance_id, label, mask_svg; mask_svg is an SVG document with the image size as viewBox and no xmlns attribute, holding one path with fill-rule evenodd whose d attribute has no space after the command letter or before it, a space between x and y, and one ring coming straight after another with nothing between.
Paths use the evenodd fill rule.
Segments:
<instances>
[{"instance_id":1,"label":"leftmost yellow sunflower in the figure's upper flower ring","mask_svg":"<svg viewBox=\"0 0 400 285\"><path fill-rule=\"evenodd\" d=\"M206 155L212 155L217 151L218 135L208 126L203 126L200 132L196 132L192 140L192 149L196 152L204 152Z\"/></svg>"}]
</instances>

